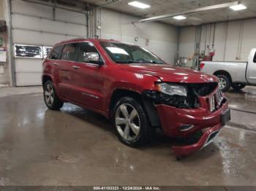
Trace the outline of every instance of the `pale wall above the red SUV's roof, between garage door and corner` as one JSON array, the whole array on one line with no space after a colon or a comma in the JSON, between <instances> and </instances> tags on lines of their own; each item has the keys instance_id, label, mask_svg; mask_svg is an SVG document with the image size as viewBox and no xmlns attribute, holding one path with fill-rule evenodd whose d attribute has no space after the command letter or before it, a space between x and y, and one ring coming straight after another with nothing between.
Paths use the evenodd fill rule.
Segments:
<instances>
[{"instance_id":1,"label":"pale wall above the red SUV's roof, between garage door and corner","mask_svg":"<svg viewBox=\"0 0 256 191\"><path fill-rule=\"evenodd\" d=\"M137 23L138 17L114 12L110 9L97 11L97 35L102 39L116 39L122 42L138 44L151 50L164 61L174 64L178 42L178 29L163 23ZM135 42L135 37L138 42ZM146 45L146 39L149 39Z\"/></svg>"}]
</instances>

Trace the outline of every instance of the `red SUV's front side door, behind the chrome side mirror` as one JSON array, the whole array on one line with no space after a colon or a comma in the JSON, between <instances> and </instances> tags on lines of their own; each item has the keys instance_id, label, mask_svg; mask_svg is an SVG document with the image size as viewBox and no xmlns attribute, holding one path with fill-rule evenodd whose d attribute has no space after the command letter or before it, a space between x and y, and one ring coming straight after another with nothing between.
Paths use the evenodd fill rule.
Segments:
<instances>
[{"instance_id":1,"label":"red SUV's front side door, behind the chrome side mirror","mask_svg":"<svg viewBox=\"0 0 256 191\"><path fill-rule=\"evenodd\" d=\"M80 42L79 49L79 69L78 75L75 76L75 84L78 85L80 94L79 102L93 109L102 110L106 66L85 61L86 52L99 54L93 43ZM99 59L102 61L100 55Z\"/></svg>"}]
</instances>

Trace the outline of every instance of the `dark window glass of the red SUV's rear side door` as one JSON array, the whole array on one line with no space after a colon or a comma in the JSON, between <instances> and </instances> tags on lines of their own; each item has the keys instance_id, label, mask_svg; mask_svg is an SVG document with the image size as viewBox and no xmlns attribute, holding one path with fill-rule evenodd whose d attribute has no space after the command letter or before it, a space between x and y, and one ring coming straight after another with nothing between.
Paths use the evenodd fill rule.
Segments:
<instances>
[{"instance_id":1,"label":"dark window glass of the red SUV's rear side door","mask_svg":"<svg viewBox=\"0 0 256 191\"><path fill-rule=\"evenodd\" d=\"M61 60L77 61L78 60L78 43L66 44L62 50Z\"/></svg>"}]
</instances>

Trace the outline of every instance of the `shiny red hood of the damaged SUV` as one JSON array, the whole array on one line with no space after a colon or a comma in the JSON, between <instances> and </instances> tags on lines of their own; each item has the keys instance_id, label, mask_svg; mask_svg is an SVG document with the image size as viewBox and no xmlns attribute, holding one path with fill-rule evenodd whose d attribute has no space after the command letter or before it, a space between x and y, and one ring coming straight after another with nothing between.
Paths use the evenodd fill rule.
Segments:
<instances>
[{"instance_id":1,"label":"shiny red hood of the damaged SUV","mask_svg":"<svg viewBox=\"0 0 256 191\"><path fill-rule=\"evenodd\" d=\"M202 83L218 82L217 77L192 69L183 69L168 64L123 64L121 69L138 74L159 77L163 82Z\"/></svg>"}]
</instances>

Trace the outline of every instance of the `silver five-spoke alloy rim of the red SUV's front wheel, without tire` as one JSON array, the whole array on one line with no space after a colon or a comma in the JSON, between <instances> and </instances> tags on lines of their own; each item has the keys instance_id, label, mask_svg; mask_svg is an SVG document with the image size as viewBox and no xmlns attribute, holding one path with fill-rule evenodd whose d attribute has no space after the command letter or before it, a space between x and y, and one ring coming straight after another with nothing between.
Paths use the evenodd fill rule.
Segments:
<instances>
[{"instance_id":1,"label":"silver five-spoke alloy rim of the red SUV's front wheel, without tire","mask_svg":"<svg viewBox=\"0 0 256 191\"><path fill-rule=\"evenodd\" d=\"M134 140L140 133L140 117L138 111L130 104L121 104L116 110L116 128L127 141Z\"/></svg>"}]
</instances>

